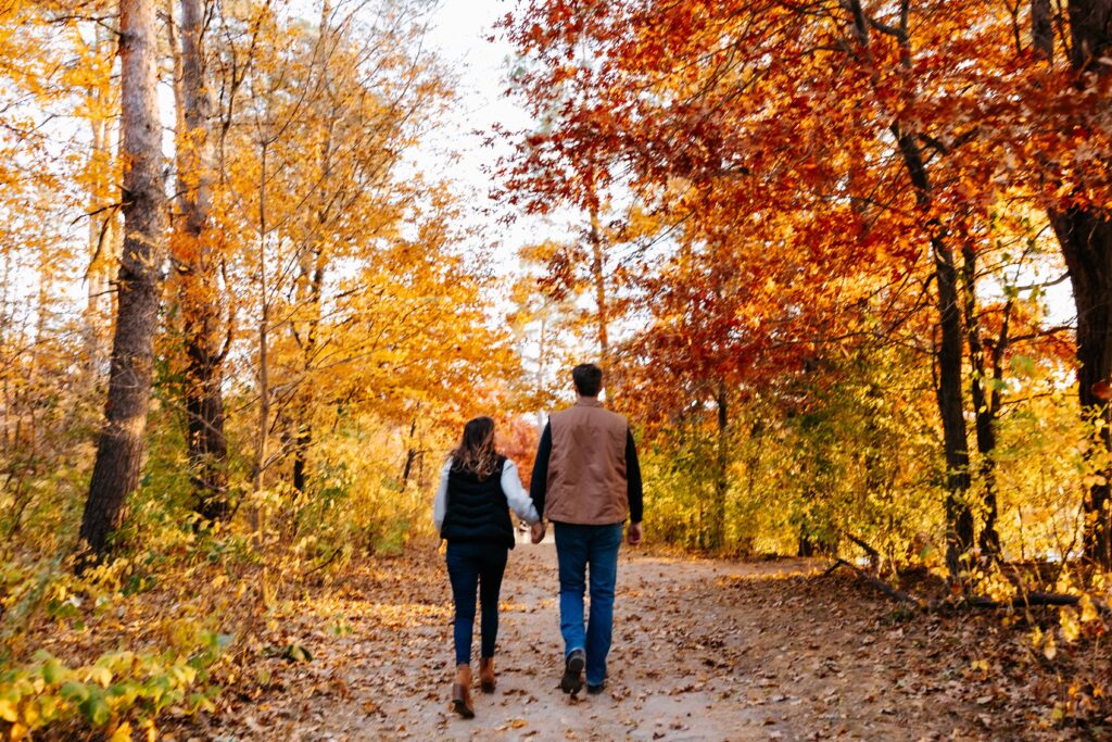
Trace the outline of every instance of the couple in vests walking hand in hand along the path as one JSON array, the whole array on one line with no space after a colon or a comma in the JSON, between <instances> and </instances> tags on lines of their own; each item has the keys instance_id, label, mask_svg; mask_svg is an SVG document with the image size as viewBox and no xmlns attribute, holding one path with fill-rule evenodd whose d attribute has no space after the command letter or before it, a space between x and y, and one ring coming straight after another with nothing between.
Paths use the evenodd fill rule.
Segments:
<instances>
[{"instance_id":1,"label":"couple in vests walking hand in hand along the path","mask_svg":"<svg viewBox=\"0 0 1112 742\"><path fill-rule=\"evenodd\" d=\"M467 423L459 446L440 472L433 514L440 537L448 542L446 561L455 601L451 706L466 719L475 715L470 659L476 591L481 613L479 685L484 693L495 689L498 594L506 557L514 547L510 508L530 524L534 544L545 536L545 517L556 532L564 635L560 689L578 693L584 671L587 693L600 693L606 684L618 546L627 516L629 543L639 543L642 536L641 469L626 419L598 402L602 369L594 364L576 366L572 380L575 406L549 417L528 494L514 462L495 451L489 417ZM585 626L588 580L590 616Z\"/></svg>"}]
</instances>

